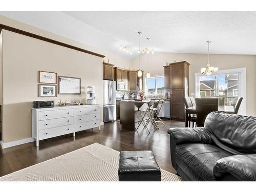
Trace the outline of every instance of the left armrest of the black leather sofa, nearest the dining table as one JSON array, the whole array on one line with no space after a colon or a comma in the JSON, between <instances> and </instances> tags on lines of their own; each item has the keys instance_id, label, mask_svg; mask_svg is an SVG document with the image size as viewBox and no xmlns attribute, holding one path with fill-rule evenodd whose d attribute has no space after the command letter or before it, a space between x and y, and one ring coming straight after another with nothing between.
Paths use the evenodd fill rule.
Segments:
<instances>
[{"instance_id":1,"label":"left armrest of the black leather sofa, nearest the dining table","mask_svg":"<svg viewBox=\"0 0 256 192\"><path fill-rule=\"evenodd\" d=\"M212 142L210 135L204 127L195 127L195 128L170 128L168 130L170 134L170 139L175 140L175 143L208 143Z\"/></svg>"}]
</instances>

